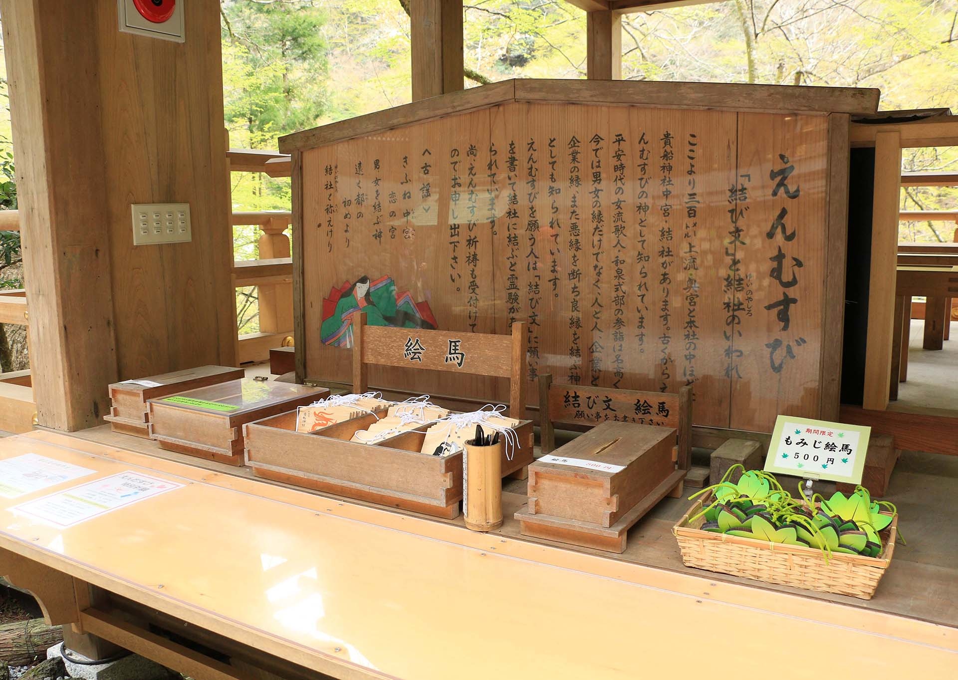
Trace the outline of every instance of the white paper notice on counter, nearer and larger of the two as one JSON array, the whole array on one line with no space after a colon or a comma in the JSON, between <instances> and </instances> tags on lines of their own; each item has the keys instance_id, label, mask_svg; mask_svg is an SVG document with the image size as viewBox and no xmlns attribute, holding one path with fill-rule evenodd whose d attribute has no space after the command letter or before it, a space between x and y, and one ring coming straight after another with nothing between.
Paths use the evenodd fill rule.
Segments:
<instances>
[{"instance_id":1,"label":"white paper notice on counter, nearer and larger of the two","mask_svg":"<svg viewBox=\"0 0 958 680\"><path fill-rule=\"evenodd\" d=\"M28 501L11 510L65 528L182 486L127 470Z\"/></svg>"}]
</instances>

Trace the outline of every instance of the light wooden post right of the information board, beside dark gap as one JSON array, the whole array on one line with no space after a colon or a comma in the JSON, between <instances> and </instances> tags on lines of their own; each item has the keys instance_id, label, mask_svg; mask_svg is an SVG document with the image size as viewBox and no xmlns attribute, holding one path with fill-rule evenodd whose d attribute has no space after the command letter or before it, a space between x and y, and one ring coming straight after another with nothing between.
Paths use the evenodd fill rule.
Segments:
<instances>
[{"instance_id":1,"label":"light wooden post right of the information board, beside dark gap","mask_svg":"<svg viewBox=\"0 0 958 680\"><path fill-rule=\"evenodd\" d=\"M868 289L868 341L862 406L888 406L895 327L901 205L901 135L878 132L875 138L875 196L872 202L872 266Z\"/></svg>"}]
</instances>

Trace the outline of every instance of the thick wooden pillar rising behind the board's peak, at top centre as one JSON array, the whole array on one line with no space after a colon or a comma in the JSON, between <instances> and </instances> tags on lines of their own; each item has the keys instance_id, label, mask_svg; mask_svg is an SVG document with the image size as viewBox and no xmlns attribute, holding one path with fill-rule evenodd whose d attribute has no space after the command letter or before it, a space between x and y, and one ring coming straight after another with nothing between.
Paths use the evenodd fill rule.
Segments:
<instances>
[{"instance_id":1,"label":"thick wooden pillar rising behind the board's peak, at top centre","mask_svg":"<svg viewBox=\"0 0 958 680\"><path fill-rule=\"evenodd\" d=\"M463 76L463 0L409 0L413 101L456 92Z\"/></svg>"}]
</instances>

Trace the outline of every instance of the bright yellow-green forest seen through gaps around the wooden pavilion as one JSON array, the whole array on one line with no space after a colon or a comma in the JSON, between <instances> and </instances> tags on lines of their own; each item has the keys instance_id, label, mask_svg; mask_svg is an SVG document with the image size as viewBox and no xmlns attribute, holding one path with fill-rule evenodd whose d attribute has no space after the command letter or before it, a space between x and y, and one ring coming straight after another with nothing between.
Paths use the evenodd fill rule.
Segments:
<instances>
[{"instance_id":1,"label":"bright yellow-green forest seen through gaps around the wooden pavilion","mask_svg":"<svg viewBox=\"0 0 958 680\"><path fill-rule=\"evenodd\" d=\"M220 0L231 146L275 149L288 132L409 102L408 2ZM956 20L954 0L726 0L636 12L623 16L622 75L877 87L882 109L958 110ZM467 87L585 78L585 12L563 0L466 0L464 29ZM10 140L0 110L0 205L15 207ZM905 149L903 170L956 169L956 147ZM232 190L235 211L289 209L288 179L234 172ZM952 210L958 189L907 188L901 207ZM234 235L236 259L257 259L259 231ZM901 240L952 238L954 223L901 223ZM11 239L0 239L0 267ZM238 312L240 332L259 329L255 288L238 291Z\"/></svg>"}]
</instances>

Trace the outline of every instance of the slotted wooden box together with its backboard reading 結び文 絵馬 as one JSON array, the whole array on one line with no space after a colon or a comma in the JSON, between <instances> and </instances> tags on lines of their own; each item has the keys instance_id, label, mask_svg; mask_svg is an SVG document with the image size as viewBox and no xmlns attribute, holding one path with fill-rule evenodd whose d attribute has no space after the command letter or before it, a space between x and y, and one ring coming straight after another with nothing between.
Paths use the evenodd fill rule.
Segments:
<instances>
[{"instance_id":1,"label":"slotted wooden box together with its backboard reading \u7d50\u3073\u6587 \u7d75\u99ac","mask_svg":"<svg viewBox=\"0 0 958 680\"><path fill-rule=\"evenodd\" d=\"M628 530L667 495L682 495L691 462L692 390L677 395L553 384L539 376L543 453L555 422L586 426L556 454L529 467L529 503L515 513L526 535L622 553ZM600 458L601 457L601 458ZM611 463L591 469L584 461Z\"/></svg>"}]
</instances>

